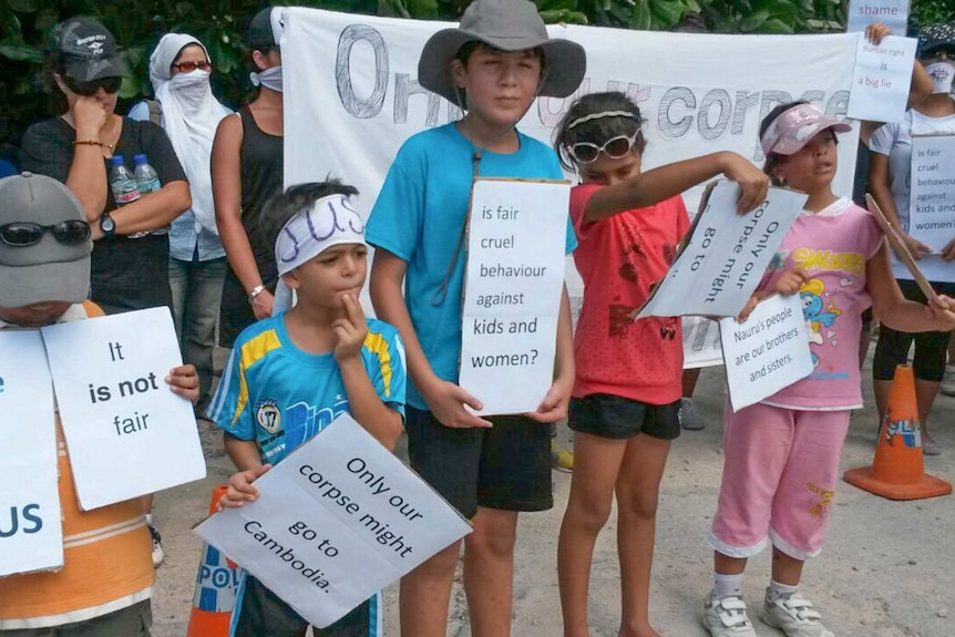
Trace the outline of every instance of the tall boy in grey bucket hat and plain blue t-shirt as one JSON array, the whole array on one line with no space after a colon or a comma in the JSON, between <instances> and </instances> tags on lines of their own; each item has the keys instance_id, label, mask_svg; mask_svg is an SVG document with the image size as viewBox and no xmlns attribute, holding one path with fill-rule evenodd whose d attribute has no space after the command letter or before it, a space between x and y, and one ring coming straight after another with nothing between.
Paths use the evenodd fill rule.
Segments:
<instances>
[{"instance_id":1,"label":"tall boy in grey bucket hat and plain blue t-shirt","mask_svg":"<svg viewBox=\"0 0 955 637\"><path fill-rule=\"evenodd\" d=\"M371 299L408 350L411 464L474 523L464 583L475 636L510 634L517 512L553 505L542 423L566 414L574 363L565 291L555 380L538 410L486 420L469 411L481 403L456 383L471 186L475 176L563 178L554 152L515 125L537 95L573 93L585 69L583 48L548 39L532 2L472 2L459 28L428 41L418 64L419 82L465 115L405 142L368 222L377 248ZM568 219L566 250L574 247ZM403 635L444 635L458 551L455 543L402 579Z\"/></svg>"}]
</instances>

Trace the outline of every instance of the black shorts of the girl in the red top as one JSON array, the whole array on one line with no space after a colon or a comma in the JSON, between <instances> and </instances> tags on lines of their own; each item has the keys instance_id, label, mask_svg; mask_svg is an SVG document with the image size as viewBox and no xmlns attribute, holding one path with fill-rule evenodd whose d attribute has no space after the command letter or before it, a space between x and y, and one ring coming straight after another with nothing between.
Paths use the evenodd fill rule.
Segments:
<instances>
[{"instance_id":1,"label":"black shorts of the girl in the red top","mask_svg":"<svg viewBox=\"0 0 955 637\"><path fill-rule=\"evenodd\" d=\"M660 440L680 435L680 401L648 404L609 393L571 399L567 425L582 433L626 440L639 433Z\"/></svg>"}]
</instances>

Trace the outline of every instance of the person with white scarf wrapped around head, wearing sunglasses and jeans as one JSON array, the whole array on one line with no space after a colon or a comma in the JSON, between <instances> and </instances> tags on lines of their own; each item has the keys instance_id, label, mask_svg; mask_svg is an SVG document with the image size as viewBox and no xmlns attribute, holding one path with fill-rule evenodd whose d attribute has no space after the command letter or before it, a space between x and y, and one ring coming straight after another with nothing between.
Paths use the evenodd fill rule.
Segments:
<instances>
[{"instance_id":1,"label":"person with white scarf wrapped around head, wearing sunglasses and jeans","mask_svg":"<svg viewBox=\"0 0 955 637\"><path fill-rule=\"evenodd\" d=\"M199 372L199 409L212 387L216 320L228 267L216 227L209 163L216 127L229 110L213 95L212 71L208 51L197 38L166 33L150 55L155 107L141 102L130 112L133 119L158 120L193 194L192 208L170 229L170 287L183 359Z\"/></svg>"}]
</instances>

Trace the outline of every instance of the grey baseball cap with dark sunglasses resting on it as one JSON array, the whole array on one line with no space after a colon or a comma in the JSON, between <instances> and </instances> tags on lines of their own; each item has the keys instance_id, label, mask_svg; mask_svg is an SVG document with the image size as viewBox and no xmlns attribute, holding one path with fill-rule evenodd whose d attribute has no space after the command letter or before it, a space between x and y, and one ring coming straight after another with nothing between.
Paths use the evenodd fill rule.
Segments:
<instances>
[{"instance_id":1,"label":"grey baseball cap with dark sunglasses resting on it","mask_svg":"<svg viewBox=\"0 0 955 637\"><path fill-rule=\"evenodd\" d=\"M22 173L0 179L0 307L19 308L44 301L83 302L90 294L93 242L62 243L52 226L86 223L83 206L66 186L43 175ZM11 224L44 226L32 245L3 238Z\"/></svg>"}]
</instances>

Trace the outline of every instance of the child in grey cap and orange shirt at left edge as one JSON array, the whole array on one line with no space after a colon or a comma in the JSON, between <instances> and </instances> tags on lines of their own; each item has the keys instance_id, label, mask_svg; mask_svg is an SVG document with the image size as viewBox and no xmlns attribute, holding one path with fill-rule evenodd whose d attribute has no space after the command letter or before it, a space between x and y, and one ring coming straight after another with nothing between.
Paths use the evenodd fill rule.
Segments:
<instances>
[{"instance_id":1,"label":"child in grey cap and orange shirt at left edge","mask_svg":"<svg viewBox=\"0 0 955 637\"><path fill-rule=\"evenodd\" d=\"M85 300L90 236L80 202L60 182L31 173L0 179L0 329L103 315ZM198 398L193 366L173 369L166 382ZM0 634L147 636L155 573L140 502L81 511L59 417L57 438L63 567L0 578Z\"/></svg>"}]
</instances>

